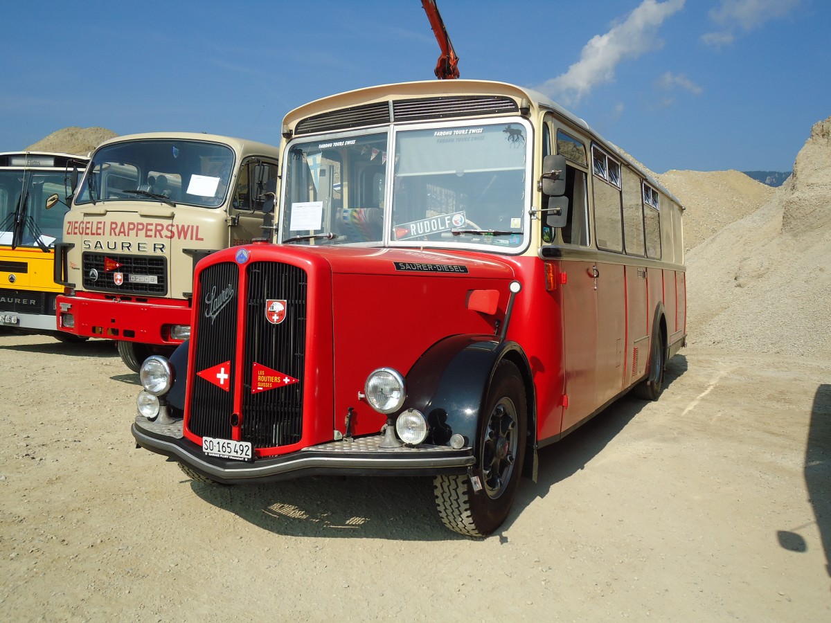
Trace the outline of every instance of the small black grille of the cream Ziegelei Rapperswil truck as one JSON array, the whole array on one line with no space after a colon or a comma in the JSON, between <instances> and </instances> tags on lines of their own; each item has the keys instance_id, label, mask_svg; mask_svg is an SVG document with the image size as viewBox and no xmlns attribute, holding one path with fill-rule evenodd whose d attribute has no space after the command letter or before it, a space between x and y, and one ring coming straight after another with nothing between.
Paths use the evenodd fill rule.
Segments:
<instances>
[{"instance_id":1,"label":"small black grille of the cream Ziegelei Rapperswil truck","mask_svg":"<svg viewBox=\"0 0 831 623\"><path fill-rule=\"evenodd\" d=\"M84 253L81 262L86 290L148 296L167 294L167 258ZM120 285L116 285L116 274L123 280Z\"/></svg>"}]
</instances>

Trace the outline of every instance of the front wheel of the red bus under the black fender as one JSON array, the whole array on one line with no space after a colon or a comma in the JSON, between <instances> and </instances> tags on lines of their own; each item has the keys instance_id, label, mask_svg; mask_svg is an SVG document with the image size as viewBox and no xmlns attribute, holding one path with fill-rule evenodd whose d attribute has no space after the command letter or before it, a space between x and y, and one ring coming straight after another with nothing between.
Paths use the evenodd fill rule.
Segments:
<instances>
[{"instance_id":1,"label":"front wheel of the red bus under the black fender","mask_svg":"<svg viewBox=\"0 0 831 623\"><path fill-rule=\"evenodd\" d=\"M525 385L517 366L501 361L479 424L479 447L473 477L436 476L436 507L445 526L469 537L486 537L502 525L514 504L525 454L528 421Z\"/></svg>"}]
</instances>

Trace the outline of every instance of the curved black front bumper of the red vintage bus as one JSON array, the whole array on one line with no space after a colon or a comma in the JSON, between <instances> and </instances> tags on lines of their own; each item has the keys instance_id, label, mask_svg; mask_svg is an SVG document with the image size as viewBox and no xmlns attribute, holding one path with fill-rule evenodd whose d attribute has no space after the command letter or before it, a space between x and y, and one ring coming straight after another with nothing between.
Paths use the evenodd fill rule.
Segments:
<instances>
[{"instance_id":1,"label":"curved black front bumper of the red vintage bus","mask_svg":"<svg viewBox=\"0 0 831 623\"><path fill-rule=\"evenodd\" d=\"M182 433L182 420L155 424L138 415L131 432L140 447L188 465L218 483L270 483L322 474L435 476L466 473L475 463L472 448L422 444L418 448L381 448L382 434L317 444L277 457L244 463L206 456Z\"/></svg>"}]
</instances>

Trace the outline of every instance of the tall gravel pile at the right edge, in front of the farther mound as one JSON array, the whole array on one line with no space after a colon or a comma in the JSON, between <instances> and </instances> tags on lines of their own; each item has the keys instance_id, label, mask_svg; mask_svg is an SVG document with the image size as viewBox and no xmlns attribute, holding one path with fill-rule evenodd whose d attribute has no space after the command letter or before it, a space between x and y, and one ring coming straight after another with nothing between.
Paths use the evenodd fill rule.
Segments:
<instances>
[{"instance_id":1,"label":"tall gravel pile at the right edge, in front of the farther mound","mask_svg":"<svg viewBox=\"0 0 831 623\"><path fill-rule=\"evenodd\" d=\"M831 358L829 130L831 117L814 125L794 174L761 208L687 254L691 344Z\"/></svg>"}]
</instances>

